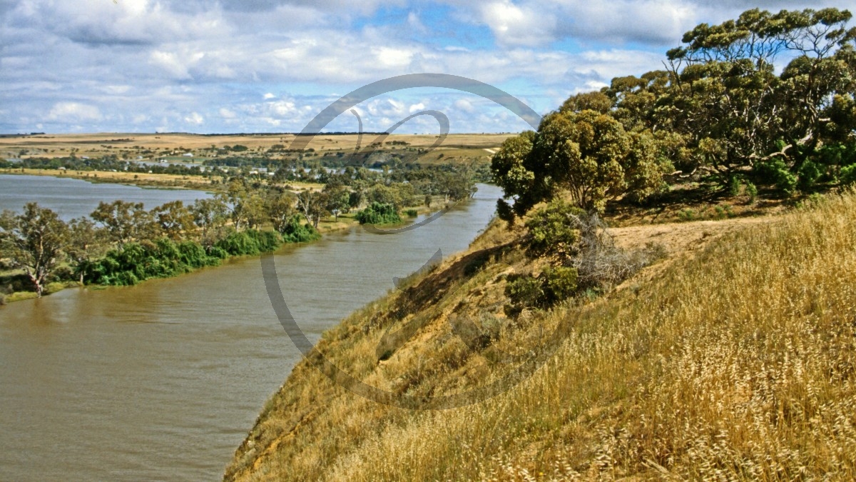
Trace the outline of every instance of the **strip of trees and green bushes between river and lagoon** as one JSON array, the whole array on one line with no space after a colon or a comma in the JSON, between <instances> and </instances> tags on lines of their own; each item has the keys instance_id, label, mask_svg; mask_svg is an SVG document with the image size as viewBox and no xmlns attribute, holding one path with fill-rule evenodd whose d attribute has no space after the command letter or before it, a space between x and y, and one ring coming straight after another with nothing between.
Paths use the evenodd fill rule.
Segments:
<instances>
[{"instance_id":1,"label":"strip of trees and green bushes between river and lagoon","mask_svg":"<svg viewBox=\"0 0 856 482\"><path fill-rule=\"evenodd\" d=\"M48 208L28 203L21 214L0 214L0 262L5 268L0 303L41 296L74 282L134 285L150 278L214 266L229 256L258 255L283 243L320 238L318 224L352 210L353 222L401 222L402 209L430 209L436 197L458 201L475 191L467 166L401 165L395 172L348 166L312 180L317 189L294 188L270 178L236 173L212 199L185 206L168 202L101 202L90 217L66 223ZM323 184L321 182L323 181ZM360 210L360 207L366 206ZM408 208L408 213L416 209Z\"/></svg>"}]
</instances>

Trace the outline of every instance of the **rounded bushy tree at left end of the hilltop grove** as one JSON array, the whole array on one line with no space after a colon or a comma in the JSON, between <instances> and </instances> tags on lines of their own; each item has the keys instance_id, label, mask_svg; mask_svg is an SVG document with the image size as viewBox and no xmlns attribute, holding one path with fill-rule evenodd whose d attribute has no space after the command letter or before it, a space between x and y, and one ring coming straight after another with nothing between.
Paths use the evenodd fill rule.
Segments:
<instances>
[{"instance_id":1,"label":"rounded bushy tree at left end of the hilltop grove","mask_svg":"<svg viewBox=\"0 0 856 482\"><path fill-rule=\"evenodd\" d=\"M615 117L591 110L551 113L537 133L503 142L490 165L517 215L566 193L586 210L603 210L628 192L644 199L663 190L670 167L649 134L629 133Z\"/></svg>"}]
</instances>

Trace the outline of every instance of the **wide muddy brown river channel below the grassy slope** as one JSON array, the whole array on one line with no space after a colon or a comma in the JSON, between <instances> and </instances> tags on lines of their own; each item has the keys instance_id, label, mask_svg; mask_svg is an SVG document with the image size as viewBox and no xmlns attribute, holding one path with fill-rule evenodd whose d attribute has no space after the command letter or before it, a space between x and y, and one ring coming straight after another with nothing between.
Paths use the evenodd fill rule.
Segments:
<instances>
[{"instance_id":1,"label":"wide muddy brown river channel below the grassy slope","mask_svg":"<svg viewBox=\"0 0 856 482\"><path fill-rule=\"evenodd\" d=\"M401 234L357 227L288 246L276 266L292 314L318 340L437 249L466 249L500 195L479 185ZM221 479L299 357L258 257L0 307L0 480Z\"/></svg>"}]
</instances>

